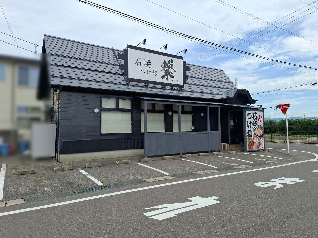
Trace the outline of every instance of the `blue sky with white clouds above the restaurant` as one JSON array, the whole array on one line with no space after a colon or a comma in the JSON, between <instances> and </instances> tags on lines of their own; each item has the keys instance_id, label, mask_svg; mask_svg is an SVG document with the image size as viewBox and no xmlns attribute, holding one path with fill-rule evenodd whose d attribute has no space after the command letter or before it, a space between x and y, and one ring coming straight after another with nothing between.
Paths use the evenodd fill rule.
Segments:
<instances>
[{"instance_id":1,"label":"blue sky with white clouds above the restaurant","mask_svg":"<svg viewBox=\"0 0 318 238\"><path fill-rule=\"evenodd\" d=\"M218 0L91 1L209 42L318 68L318 1L315 0L225 0L223 3ZM167 50L161 51L169 54L187 48L186 55L179 54L184 61L222 69L233 82L237 77L237 87L249 90L253 99L258 100L256 105L268 108L290 103L288 117L303 117L306 114L306 117L318 118L318 84L311 84L318 82L318 70L276 63L231 50L219 50L75 0L0 2L14 36L31 43L42 46L43 36L47 34L120 50L127 44L137 45L144 38L147 39L146 45L139 46L157 50L168 44ZM2 11L0 23L0 31L10 34ZM15 44L11 36L2 33L0 40ZM17 43L31 51L42 51L41 47L35 49L30 43L20 40ZM19 54L16 46L1 41L0 53ZM34 54L23 49L21 53ZM262 93L301 84L307 85ZM284 115L280 110L268 108L264 111L264 117L280 118Z\"/></svg>"}]
</instances>

